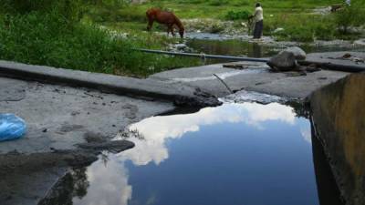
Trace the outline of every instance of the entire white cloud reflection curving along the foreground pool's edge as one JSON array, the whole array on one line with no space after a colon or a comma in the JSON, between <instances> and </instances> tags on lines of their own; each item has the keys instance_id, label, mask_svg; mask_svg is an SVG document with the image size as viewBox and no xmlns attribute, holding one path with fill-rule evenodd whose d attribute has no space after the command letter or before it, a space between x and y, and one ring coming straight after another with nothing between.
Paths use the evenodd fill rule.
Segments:
<instances>
[{"instance_id":1,"label":"entire white cloud reflection curving along the foreground pool's edge","mask_svg":"<svg viewBox=\"0 0 365 205\"><path fill-rule=\"evenodd\" d=\"M144 139L129 138L136 143L134 149L111 156L110 162L104 166L100 161L88 169L90 188L88 195L82 199L74 199L74 204L119 204L127 205L131 200L132 186L129 184L129 174L126 161L135 166L144 166L151 162L161 164L169 158L166 142L171 139L183 138L188 132L197 132L203 126L214 126L223 123L244 123L257 130L266 129L266 122L280 121L287 126L298 126L303 138L310 138L308 121L299 122L293 108L277 103L261 105L256 103L226 103L219 108L203 108L197 113L152 117L130 126L137 129ZM310 142L310 141L309 141ZM94 186L93 186L94 185ZM118 196L118 197L117 197ZM156 200L151 196L151 202ZM152 199L152 200L151 200ZM141 201L140 201L141 202Z\"/></svg>"}]
</instances>

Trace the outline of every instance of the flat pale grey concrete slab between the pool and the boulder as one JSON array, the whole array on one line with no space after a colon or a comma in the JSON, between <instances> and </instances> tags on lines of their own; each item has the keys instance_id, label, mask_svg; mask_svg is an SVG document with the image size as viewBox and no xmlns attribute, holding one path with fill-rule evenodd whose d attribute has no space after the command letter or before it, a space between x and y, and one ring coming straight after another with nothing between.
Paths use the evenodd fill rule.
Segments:
<instances>
[{"instance_id":1,"label":"flat pale grey concrete slab between the pool and the boulder","mask_svg":"<svg viewBox=\"0 0 365 205\"><path fill-rule=\"evenodd\" d=\"M333 60L337 56L343 56L348 52L336 52L327 54L310 55L310 59L320 58L322 60ZM322 56L321 56L322 55ZM355 56L355 53L352 53ZM358 55L359 56L359 55ZM348 60L339 60L343 64L352 64ZM155 80L170 80L172 82L188 83L194 87L200 87L217 97L224 97L230 94L214 74L224 79L224 82L232 90L245 89L248 91L262 92L280 97L308 97L313 91L333 83L340 78L349 75L347 72L321 70L308 73L307 76L300 76L296 72L272 73L264 63L237 62L246 65L246 69L225 68L223 64L216 64L204 67L188 67L172 71L166 71L151 76Z\"/></svg>"}]
</instances>

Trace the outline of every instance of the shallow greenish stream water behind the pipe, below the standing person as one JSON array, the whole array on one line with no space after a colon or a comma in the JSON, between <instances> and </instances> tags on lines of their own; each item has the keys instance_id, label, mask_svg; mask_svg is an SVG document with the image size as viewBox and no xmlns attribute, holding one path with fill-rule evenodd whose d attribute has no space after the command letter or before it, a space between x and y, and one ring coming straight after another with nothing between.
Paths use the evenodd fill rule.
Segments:
<instances>
[{"instance_id":1,"label":"shallow greenish stream water behind the pipe, below the standing person","mask_svg":"<svg viewBox=\"0 0 365 205\"><path fill-rule=\"evenodd\" d=\"M226 56L249 56L249 57L270 57L276 55L287 46L258 44L242 40L211 40L211 39L190 39L187 46L192 47L197 53L226 55ZM333 51L361 51L365 52L365 46L335 45L335 46L300 46L307 53L333 52ZM222 63L224 60L209 60L207 63Z\"/></svg>"}]
</instances>

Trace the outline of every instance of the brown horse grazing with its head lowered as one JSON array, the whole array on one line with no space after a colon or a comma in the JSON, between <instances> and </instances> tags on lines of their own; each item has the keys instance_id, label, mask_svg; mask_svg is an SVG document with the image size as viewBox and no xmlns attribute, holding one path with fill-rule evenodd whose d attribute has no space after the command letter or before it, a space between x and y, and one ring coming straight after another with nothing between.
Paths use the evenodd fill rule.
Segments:
<instances>
[{"instance_id":1,"label":"brown horse grazing with its head lowered","mask_svg":"<svg viewBox=\"0 0 365 205\"><path fill-rule=\"evenodd\" d=\"M172 36L175 36L175 33L173 32L173 26L177 26L179 28L179 34L183 38L183 33L185 31L185 29L183 28L183 23L172 12L162 11L158 8L151 8L146 12L146 15L149 20L147 26L148 31L151 31L153 22L157 21L159 24L167 26L168 36L170 32L172 33Z\"/></svg>"}]
</instances>

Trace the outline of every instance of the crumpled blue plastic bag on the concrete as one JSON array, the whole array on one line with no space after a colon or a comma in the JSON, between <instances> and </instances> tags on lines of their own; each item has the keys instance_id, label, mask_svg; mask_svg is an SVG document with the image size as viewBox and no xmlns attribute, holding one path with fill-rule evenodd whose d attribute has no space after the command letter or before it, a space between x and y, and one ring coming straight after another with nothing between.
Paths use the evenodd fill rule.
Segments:
<instances>
[{"instance_id":1,"label":"crumpled blue plastic bag on the concrete","mask_svg":"<svg viewBox=\"0 0 365 205\"><path fill-rule=\"evenodd\" d=\"M26 122L14 114L0 114L0 141L22 138L26 134Z\"/></svg>"}]
</instances>

